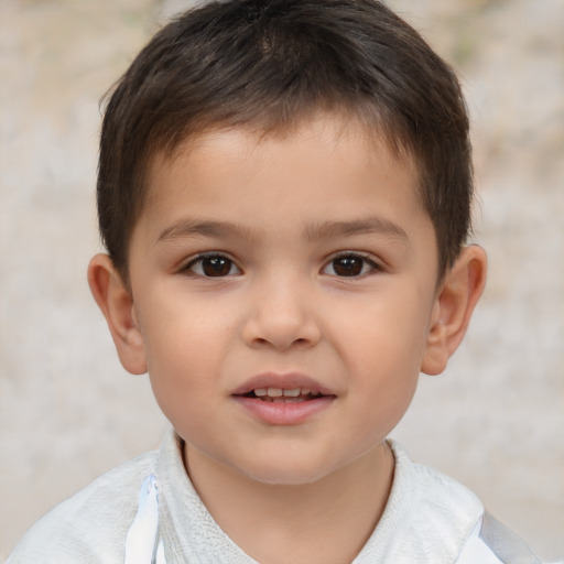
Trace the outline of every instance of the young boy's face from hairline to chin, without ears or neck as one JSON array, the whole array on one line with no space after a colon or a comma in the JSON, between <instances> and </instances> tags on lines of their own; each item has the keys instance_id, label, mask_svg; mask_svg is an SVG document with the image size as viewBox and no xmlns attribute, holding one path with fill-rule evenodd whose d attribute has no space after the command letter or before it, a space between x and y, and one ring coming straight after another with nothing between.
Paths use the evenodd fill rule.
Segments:
<instances>
[{"instance_id":1,"label":"young boy's face from hairline to chin, without ears or neck","mask_svg":"<svg viewBox=\"0 0 564 564\"><path fill-rule=\"evenodd\" d=\"M414 167L328 117L285 138L210 132L156 160L129 270L141 362L188 459L265 482L379 445L437 323Z\"/></svg>"}]
</instances>

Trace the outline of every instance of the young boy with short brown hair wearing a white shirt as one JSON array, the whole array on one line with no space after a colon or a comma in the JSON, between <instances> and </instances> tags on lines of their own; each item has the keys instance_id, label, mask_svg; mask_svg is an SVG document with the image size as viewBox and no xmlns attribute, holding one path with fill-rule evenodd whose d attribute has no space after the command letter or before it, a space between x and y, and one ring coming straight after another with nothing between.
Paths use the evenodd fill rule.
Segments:
<instances>
[{"instance_id":1,"label":"young boy with short brown hair wearing a white shirt","mask_svg":"<svg viewBox=\"0 0 564 564\"><path fill-rule=\"evenodd\" d=\"M482 291L471 196L458 83L381 3L166 25L106 110L89 283L173 431L9 563L539 562L387 441Z\"/></svg>"}]
</instances>

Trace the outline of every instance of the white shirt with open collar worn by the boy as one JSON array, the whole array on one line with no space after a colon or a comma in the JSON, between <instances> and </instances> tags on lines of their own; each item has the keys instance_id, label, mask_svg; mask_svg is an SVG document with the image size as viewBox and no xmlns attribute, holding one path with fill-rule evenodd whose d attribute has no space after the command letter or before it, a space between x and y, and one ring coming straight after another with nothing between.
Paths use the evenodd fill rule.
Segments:
<instances>
[{"instance_id":1,"label":"white shirt with open collar worn by the boy","mask_svg":"<svg viewBox=\"0 0 564 564\"><path fill-rule=\"evenodd\" d=\"M354 564L540 562L471 491L390 444L390 498ZM110 470L42 518L7 564L40 563L257 564L207 511L172 431L159 451Z\"/></svg>"}]
</instances>

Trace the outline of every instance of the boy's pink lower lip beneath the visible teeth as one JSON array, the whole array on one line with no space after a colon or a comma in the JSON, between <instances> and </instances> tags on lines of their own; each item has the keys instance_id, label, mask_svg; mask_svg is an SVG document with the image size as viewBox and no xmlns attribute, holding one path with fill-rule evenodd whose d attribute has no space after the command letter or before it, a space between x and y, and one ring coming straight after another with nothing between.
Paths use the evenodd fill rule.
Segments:
<instances>
[{"instance_id":1,"label":"boy's pink lower lip beneath the visible teeth","mask_svg":"<svg viewBox=\"0 0 564 564\"><path fill-rule=\"evenodd\" d=\"M335 400L334 395L324 395L300 402L271 402L234 395L236 401L253 416L270 425L297 425L326 410Z\"/></svg>"}]
</instances>

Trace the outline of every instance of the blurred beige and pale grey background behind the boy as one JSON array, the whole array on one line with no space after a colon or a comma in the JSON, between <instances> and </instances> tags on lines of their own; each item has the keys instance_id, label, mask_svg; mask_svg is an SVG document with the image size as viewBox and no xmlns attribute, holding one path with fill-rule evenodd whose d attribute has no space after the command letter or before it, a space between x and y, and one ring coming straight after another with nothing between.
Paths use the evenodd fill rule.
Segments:
<instances>
[{"instance_id":1,"label":"blurred beige and pale grey background behind the boy","mask_svg":"<svg viewBox=\"0 0 564 564\"><path fill-rule=\"evenodd\" d=\"M99 99L187 1L0 0L0 561L166 422L89 295ZM389 0L459 72L488 289L392 436L564 557L564 1Z\"/></svg>"}]
</instances>

